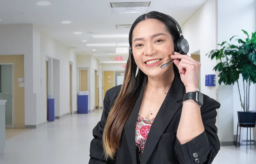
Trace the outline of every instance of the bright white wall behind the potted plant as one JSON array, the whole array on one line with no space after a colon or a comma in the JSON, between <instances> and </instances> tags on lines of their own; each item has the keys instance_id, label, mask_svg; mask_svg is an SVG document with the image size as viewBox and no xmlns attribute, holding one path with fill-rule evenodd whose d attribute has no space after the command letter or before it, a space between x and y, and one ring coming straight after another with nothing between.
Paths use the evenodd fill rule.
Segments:
<instances>
[{"instance_id":1,"label":"bright white wall behind the potted plant","mask_svg":"<svg viewBox=\"0 0 256 164\"><path fill-rule=\"evenodd\" d=\"M230 5L232 4L232 5ZM241 14L242 13L242 14ZM239 38L245 39L246 35L241 31L245 30L249 34L256 31L256 1L255 0L219 0L218 1L218 42L229 41L232 36L238 35ZM234 41L233 41L234 43ZM241 77L241 75L240 75ZM240 90L242 80L239 79ZM256 87L250 86L250 110L256 110L255 99ZM237 111L241 111L240 98L237 84L233 86L233 131L236 135L237 130ZM241 93L243 97L243 93ZM241 140L246 139L246 128L241 130ZM248 132L249 133L249 132ZM250 134L250 133L249 133ZM254 136L256 136L256 128L254 128ZM254 138L254 140L256 140Z\"/></svg>"}]
</instances>

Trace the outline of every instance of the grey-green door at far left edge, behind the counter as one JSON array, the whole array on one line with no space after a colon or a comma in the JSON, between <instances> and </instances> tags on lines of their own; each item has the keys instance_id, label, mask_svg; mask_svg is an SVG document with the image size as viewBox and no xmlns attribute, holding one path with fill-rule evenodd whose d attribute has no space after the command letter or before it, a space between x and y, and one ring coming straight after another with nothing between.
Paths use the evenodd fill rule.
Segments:
<instances>
[{"instance_id":1,"label":"grey-green door at far left edge, behind the counter","mask_svg":"<svg viewBox=\"0 0 256 164\"><path fill-rule=\"evenodd\" d=\"M0 99L5 103L5 125L12 127L12 65L1 65L1 93Z\"/></svg>"}]
</instances>

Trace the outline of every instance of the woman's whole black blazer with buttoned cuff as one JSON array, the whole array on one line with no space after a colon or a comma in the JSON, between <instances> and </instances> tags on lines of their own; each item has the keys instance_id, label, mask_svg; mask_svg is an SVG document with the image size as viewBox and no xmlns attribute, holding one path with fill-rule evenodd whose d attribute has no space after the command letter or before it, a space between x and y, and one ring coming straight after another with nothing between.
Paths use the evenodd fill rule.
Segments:
<instances>
[{"instance_id":1,"label":"woman's whole black blazer with buttoned cuff","mask_svg":"<svg viewBox=\"0 0 256 164\"><path fill-rule=\"evenodd\" d=\"M121 135L120 148L115 160L105 160L102 148L104 126L121 86L116 86L106 92L101 121L93 129L94 139L90 145L89 164L136 164L135 124L139 114L144 88L132 109L130 120L124 126ZM180 78L175 76L166 98L151 125L141 164L210 164L220 149L217 136L216 109L220 104L204 95L201 116L205 131L193 140L179 144L176 132L182 111L182 99L185 87Z\"/></svg>"}]
</instances>

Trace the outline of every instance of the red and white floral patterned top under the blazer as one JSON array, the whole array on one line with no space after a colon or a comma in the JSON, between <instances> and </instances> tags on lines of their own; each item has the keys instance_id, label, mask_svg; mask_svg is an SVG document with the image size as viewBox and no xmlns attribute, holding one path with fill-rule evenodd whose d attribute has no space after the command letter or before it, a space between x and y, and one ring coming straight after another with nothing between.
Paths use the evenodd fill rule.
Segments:
<instances>
[{"instance_id":1,"label":"red and white floral patterned top under the blazer","mask_svg":"<svg viewBox=\"0 0 256 164\"><path fill-rule=\"evenodd\" d=\"M144 151L144 146L148 137L150 127L155 118L146 120L138 115L136 127L135 127L135 145L137 154L137 164L140 164L141 157Z\"/></svg>"}]
</instances>

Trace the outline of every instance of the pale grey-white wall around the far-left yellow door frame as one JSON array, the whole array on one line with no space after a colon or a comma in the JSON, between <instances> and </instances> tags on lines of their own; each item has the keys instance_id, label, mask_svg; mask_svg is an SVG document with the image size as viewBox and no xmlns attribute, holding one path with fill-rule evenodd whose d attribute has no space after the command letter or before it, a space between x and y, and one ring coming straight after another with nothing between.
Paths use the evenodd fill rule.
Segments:
<instances>
[{"instance_id":1,"label":"pale grey-white wall around the far-left yellow door frame","mask_svg":"<svg viewBox=\"0 0 256 164\"><path fill-rule=\"evenodd\" d=\"M32 24L0 25L0 54L24 54L24 83L25 83L25 125L36 125L37 95L35 79L33 78L33 38L37 35ZM35 41L38 42L38 41ZM34 43L35 43L34 42ZM36 51L34 51L36 53ZM37 59L34 58L35 61ZM35 69L38 69L35 68ZM40 81L40 79L38 79ZM35 85L35 89L33 90Z\"/></svg>"}]
</instances>

